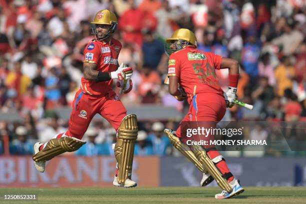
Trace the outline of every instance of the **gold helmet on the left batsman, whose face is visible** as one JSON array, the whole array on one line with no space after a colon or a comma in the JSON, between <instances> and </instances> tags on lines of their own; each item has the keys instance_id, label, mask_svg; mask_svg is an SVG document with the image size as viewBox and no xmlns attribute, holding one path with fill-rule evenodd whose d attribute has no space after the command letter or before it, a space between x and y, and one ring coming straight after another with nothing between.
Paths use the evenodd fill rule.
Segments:
<instances>
[{"instance_id":1,"label":"gold helmet on the left batsman, whose face is visible","mask_svg":"<svg viewBox=\"0 0 306 204\"><path fill-rule=\"evenodd\" d=\"M110 10L104 9L96 12L92 24L106 24L110 25L108 31L104 34L103 37L98 37L96 28L92 28L93 34L97 37L97 40L103 40L109 37L117 28L118 20L116 15Z\"/></svg>"}]
</instances>

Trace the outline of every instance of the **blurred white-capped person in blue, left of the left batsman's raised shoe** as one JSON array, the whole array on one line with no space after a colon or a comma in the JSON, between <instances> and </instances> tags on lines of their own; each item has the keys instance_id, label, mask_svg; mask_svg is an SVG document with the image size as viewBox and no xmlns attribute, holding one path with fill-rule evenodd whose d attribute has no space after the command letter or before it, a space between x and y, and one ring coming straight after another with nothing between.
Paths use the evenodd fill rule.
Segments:
<instances>
[{"instance_id":1,"label":"blurred white-capped person in blue, left of the left batsman's raised shoe","mask_svg":"<svg viewBox=\"0 0 306 204\"><path fill-rule=\"evenodd\" d=\"M17 126L15 134L16 138L10 143L9 152L17 155L33 154L33 142L27 139L26 128Z\"/></svg>"}]
</instances>

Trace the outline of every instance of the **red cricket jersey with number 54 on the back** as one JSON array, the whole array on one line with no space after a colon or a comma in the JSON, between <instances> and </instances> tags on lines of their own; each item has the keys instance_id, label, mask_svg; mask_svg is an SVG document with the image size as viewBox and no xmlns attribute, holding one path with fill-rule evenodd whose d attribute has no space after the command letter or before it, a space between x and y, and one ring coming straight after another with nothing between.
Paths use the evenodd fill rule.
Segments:
<instances>
[{"instance_id":1,"label":"red cricket jersey with number 54 on the back","mask_svg":"<svg viewBox=\"0 0 306 204\"><path fill-rule=\"evenodd\" d=\"M168 61L168 76L176 75L188 96L196 93L217 93L223 96L215 69L220 69L222 56L186 46L173 52ZM224 97L224 96L223 96Z\"/></svg>"}]
</instances>

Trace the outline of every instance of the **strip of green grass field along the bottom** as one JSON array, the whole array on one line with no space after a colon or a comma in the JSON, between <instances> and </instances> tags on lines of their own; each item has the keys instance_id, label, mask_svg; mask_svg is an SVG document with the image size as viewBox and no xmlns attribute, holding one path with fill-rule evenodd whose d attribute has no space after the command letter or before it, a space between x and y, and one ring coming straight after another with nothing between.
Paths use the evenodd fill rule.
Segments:
<instances>
[{"instance_id":1,"label":"strip of green grass field along the bottom","mask_svg":"<svg viewBox=\"0 0 306 204\"><path fill-rule=\"evenodd\" d=\"M4 194L36 194L38 201L0 203L306 203L306 187L245 187L230 199L216 200L217 187L156 188L0 188Z\"/></svg>"}]
</instances>

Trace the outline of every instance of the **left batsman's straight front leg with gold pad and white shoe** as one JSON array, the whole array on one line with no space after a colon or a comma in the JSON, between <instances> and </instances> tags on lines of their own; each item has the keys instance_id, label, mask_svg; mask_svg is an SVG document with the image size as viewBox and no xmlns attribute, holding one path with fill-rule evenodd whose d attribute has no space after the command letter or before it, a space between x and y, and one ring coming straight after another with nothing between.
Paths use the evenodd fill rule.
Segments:
<instances>
[{"instance_id":1,"label":"left batsman's straight front leg with gold pad and white shoe","mask_svg":"<svg viewBox=\"0 0 306 204\"><path fill-rule=\"evenodd\" d=\"M131 172L138 132L137 117L134 114L126 115L125 107L113 91L109 92L100 114L117 131L117 141L113 144L117 164L112 183L120 187L134 187L137 183L131 180Z\"/></svg>"}]
</instances>

